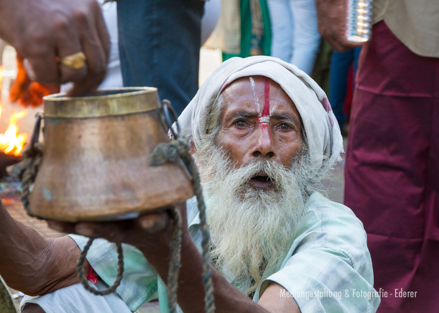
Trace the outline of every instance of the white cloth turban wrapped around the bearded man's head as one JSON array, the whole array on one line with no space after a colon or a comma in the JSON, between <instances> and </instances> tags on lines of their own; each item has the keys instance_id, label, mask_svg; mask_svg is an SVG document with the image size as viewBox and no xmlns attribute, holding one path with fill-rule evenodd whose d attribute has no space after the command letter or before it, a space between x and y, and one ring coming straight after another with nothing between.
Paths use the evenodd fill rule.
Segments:
<instances>
[{"instance_id":1,"label":"white cloth turban wrapped around the bearded man's head","mask_svg":"<svg viewBox=\"0 0 439 313\"><path fill-rule=\"evenodd\" d=\"M178 118L180 132L190 137L195 148L205 133L206 114L212 100L235 79L262 75L281 85L294 102L302 117L312 162L319 162L326 169L340 159L343 139L324 91L297 66L275 57L233 57L219 65L206 79L194 99ZM324 163L324 155L329 157Z\"/></svg>"}]
</instances>

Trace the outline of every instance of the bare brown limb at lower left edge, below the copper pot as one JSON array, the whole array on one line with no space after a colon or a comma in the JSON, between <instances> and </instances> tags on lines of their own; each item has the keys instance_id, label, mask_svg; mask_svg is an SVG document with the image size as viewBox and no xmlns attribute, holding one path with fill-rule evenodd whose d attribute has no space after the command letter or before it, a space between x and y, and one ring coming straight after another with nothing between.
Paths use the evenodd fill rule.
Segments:
<instances>
[{"instance_id":1,"label":"bare brown limb at lower left edge, below the copper pot","mask_svg":"<svg viewBox=\"0 0 439 313\"><path fill-rule=\"evenodd\" d=\"M79 282L76 261L81 250L72 238L44 238L14 220L0 204L0 275L8 286L43 295ZM86 263L86 272L90 265Z\"/></svg>"}]
</instances>

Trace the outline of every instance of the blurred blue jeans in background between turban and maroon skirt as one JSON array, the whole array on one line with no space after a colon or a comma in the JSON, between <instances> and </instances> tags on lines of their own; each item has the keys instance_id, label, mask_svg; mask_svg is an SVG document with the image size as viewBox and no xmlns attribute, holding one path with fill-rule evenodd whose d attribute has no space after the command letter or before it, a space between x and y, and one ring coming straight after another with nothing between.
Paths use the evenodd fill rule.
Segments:
<instances>
[{"instance_id":1,"label":"blurred blue jeans in background between turban and maroon skirt","mask_svg":"<svg viewBox=\"0 0 439 313\"><path fill-rule=\"evenodd\" d=\"M329 68L329 102L331 103L332 111L338 121L340 129L343 128L347 119L343 112L343 106L346 100L346 91L348 84L349 68L351 64L354 66L354 83L355 88L355 73L358 67L358 57L360 56L361 47L349 49L343 53L333 51L331 56L331 65Z\"/></svg>"}]
</instances>

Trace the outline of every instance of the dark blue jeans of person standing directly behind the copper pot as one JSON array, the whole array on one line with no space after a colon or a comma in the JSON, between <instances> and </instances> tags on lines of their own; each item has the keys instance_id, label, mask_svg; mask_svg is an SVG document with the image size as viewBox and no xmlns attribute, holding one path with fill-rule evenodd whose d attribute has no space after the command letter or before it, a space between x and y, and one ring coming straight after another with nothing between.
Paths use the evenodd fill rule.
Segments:
<instances>
[{"instance_id":1,"label":"dark blue jeans of person standing directly behind the copper pot","mask_svg":"<svg viewBox=\"0 0 439 313\"><path fill-rule=\"evenodd\" d=\"M177 115L198 90L200 0L118 0L119 52L125 86L157 87Z\"/></svg>"}]
</instances>

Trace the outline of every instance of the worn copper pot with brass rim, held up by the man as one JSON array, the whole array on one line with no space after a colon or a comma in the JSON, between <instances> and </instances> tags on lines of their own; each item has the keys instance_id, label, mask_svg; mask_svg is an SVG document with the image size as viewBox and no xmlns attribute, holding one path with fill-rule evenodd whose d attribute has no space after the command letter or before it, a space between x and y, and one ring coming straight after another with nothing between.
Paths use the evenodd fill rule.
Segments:
<instances>
[{"instance_id":1,"label":"worn copper pot with brass rim, held up by the man","mask_svg":"<svg viewBox=\"0 0 439 313\"><path fill-rule=\"evenodd\" d=\"M31 214L58 221L112 221L194 195L183 163L148 164L168 142L157 89L103 89L97 96L44 99L43 161Z\"/></svg>"}]
</instances>

